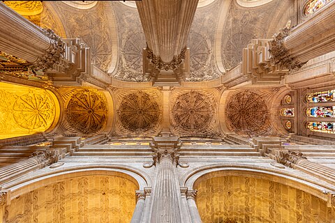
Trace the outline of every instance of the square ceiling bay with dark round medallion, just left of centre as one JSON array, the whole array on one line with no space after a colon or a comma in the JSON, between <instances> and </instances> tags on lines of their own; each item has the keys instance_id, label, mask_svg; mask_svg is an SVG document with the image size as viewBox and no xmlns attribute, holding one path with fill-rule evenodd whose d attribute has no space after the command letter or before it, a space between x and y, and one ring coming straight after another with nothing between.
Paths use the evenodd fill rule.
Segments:
<instances>
[{"instance_id":1,"label":"square ceiling bay with dark round medallion, just left of centre","mask_svg":"<svg viewBox=\"0 0 335 223\"><path fill-rule=\"evenodd\" d=\"M114 137L156 136L161 131L163 95L161 89L112 89L117 118Z\"/></svg>"}]
</instances>

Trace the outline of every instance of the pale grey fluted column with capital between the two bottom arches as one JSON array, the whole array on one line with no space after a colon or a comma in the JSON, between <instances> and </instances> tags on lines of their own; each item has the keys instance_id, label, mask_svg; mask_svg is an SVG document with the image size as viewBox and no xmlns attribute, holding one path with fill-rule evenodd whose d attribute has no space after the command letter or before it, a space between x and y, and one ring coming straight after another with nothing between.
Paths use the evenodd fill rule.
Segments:
<instances>
[{"instance_id":1,"label":"pale grey fluted column with capital between the two bottom arches","mask_svg":"<svg viewBox=\"0 0 335 223\"><path fill-rule=\"evenodd\" d=\"M151 223L180 223L181 194L174 151L158 151L157 174L152 190Z\"/></svg>"}]
</instances>

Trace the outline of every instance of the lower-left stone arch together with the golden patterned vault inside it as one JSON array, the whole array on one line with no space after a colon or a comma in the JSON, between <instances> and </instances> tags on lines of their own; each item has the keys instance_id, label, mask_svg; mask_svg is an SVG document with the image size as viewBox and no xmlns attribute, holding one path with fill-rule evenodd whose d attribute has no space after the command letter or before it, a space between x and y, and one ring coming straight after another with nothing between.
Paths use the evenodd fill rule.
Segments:
<instances>
[{"instance_id":1,"label":"lower-left stone arch together with the golden patterned vault inside it","mask_svg":"<svg viewBox=\"0 0 335 223\"><path fill-rule=\"evenodd\" d=\"M135 191L146 184L124 168L84 168L40 175L11 187L5 222L130 222ZM17 219L19 218L19 219Z\"/></svg>"}]
</instances>

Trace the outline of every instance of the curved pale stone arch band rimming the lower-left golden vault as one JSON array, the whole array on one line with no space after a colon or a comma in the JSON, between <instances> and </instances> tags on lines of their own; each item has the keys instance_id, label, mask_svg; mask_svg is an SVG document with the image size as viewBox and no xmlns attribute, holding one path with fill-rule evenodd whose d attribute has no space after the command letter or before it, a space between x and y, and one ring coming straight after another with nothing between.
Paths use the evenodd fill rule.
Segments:
<instances>
[{"instance_id":1,"label":"curved pale stone arch band rimming the lower-left golden vault","mask_svg":"<svg viewBox=\"0 0 335 223\"><path fill-rule=\"evenodd\" d=\"M42 172L38 175L34 174L33 176L28 176L27 178L21 178L21 180L6 183L3 185L2 190L9 191L10 200L12 200L22 194L26 194L27 192L58 183L63 180L96 175L126 176L128 180L137 184L139 190L144 190L144 187L151 187L152 184L149 175L133 167L128 167L126 165L91 165L84 167L65 167L64 169L54 169L52 171L48 171L47 173Z\"/></svg>"}]
</instances>

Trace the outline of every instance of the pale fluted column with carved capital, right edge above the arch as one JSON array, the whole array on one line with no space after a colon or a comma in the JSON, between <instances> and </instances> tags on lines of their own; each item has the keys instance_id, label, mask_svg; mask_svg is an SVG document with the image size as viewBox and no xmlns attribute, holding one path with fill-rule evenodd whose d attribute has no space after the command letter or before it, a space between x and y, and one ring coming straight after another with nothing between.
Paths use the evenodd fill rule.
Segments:
<instances>
[{"instance_id":1,"label":"pale fluted column with carved capital, right edge above the arch","mask_svg":"<svg viewBox=\"0 0 335 223\"><path fill-rule=\"evenodd\" d=\"M335 169L316 162L311 162L300 152L281 151L277 162L292 169L299 169L307 174L325 180L328 183L335 183Z\"/></svg>"}]
</instances>

